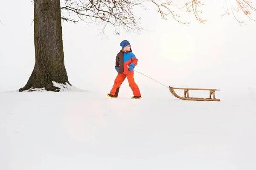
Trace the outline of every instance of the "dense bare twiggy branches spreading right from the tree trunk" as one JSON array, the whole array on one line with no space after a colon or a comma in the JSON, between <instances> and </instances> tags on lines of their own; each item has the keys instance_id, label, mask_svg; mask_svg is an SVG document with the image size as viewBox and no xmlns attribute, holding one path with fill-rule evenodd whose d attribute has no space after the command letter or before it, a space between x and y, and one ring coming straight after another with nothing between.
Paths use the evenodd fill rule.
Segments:
<instances>
[{"instance_id":1,"label":"dense bare twiggy branches spreading right from the tree trunk","mask_svg":"<svg viewBox=\"0 0 256 170\"><path fill-rule=\"evenodd\" d=\"M66 15L62 19L78 22L82 20L86 23L97 23L103 26L108 25L117 27L122 26L126 31L143 30L138 26L140 18L133 14L133 7L140 5L140 0L64 0L65 6L61 7ZM71 17L71 14L75 16ZM71 19L72 18L72 19ZM77 18L73 19L73 18ZM115 32L118 33L118 32Z\"/></svg>"}]
</instances>

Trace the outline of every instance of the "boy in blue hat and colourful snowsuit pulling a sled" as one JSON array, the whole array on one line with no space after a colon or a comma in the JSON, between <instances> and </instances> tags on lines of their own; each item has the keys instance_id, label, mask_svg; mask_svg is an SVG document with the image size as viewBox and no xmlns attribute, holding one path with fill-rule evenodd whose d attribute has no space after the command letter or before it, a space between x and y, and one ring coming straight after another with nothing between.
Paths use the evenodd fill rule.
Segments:
<instances>
[{"instance_id":1,"label":"boy in blue hat and colourful snowsuit pulling a sled","mask_svg":"<svg viewBox=\"0 0 256 170\"><path fill-rule=\"evenodd\" d=\"M117 76L114 81L113 88L111 89L110 93L108 94L111 98L117 98L119 93L119 88L122 82L127 77L129 86L134 94L132 99L140 99L140 89L138 85L134 82L134 68L137 65L138 59L135 57L133 52L131 51L131 44L127 40L123 40L120 43L122 49L116 55L116 66L115 69L117 71Z\"/></svg>"}]
</instances>

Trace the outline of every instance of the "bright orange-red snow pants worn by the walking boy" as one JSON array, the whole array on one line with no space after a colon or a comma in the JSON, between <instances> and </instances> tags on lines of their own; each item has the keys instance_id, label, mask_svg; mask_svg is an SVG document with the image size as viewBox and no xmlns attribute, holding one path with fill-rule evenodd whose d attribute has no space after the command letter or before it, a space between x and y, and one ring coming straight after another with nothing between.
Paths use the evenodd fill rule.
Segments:
<instances>
[{"instance_id":1,"label":"bright orange-red snow pants worn by the walking boy","mask_svg":"<svg viewBox=\"0 0 256 170\"><path fill-rule=\"evenodd\" d=\"M114 96L118 96L119 88L127 77L129 86L134 94L134 96L141 96L140 89L138 85L134 82L134 74L117 74L116 79L114 81L113 88L110 91L110 94Z\"/></svg>"}]
</instances>

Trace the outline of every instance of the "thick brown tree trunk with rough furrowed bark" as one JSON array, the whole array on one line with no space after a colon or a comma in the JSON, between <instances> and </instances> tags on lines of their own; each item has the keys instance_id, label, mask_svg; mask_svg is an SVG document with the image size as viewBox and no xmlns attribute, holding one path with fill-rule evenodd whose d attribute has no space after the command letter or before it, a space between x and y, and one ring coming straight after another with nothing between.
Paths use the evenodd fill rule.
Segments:
<instances>
[{"instance_id":1,"label":"thick brown tree trunk with rough furrowed bark","mask_svg":"<svg viewBox=\"0 0 256 170\"><path fill-rule=\"evenodd\" d=\"M64 65L60 0L34 1L35 67L19 91L45 88L59 91L57 83L71 85Z\"/></svg>"}]
</instances>

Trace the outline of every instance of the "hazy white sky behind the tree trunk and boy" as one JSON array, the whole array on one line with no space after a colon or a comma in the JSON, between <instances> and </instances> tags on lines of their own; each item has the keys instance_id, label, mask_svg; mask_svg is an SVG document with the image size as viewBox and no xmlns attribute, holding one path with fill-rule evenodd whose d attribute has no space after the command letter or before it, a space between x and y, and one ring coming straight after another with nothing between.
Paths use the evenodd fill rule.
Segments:
<instances>
[{"instance_id":1,"label":"hazy white sky behind the tree trunk and boy","mask_svg":"<svg viewBox=\"0 0 256 170\"><path fill-rule=\"evenodd\" d=\"M64 22L64 56L70 83L108 93L116 76L119 44L126 39L139 59L135 70L167 86L219 88L223 97L248 98L256 91L256 23L241 27L231 15L221 18L222 2L202 1L206 4L202 17L208 19L204 25L192 14L180 13L181 19L191 21L184 26L171 17L161 19L154 9L136 11L135 15L143 19L142 26L154 30L140 35L121 32L117 36L112 34L113 28L108 28L105 38L97 36L101 30L96 26ZM33 5L20 0L0 0L0 4L4 24L0 25L0 91L18 90L26 84L35 64ZM135 81L142 89L164 88L138 73Z\"/></svg>"}]
</instances>

